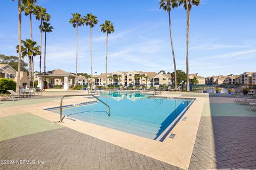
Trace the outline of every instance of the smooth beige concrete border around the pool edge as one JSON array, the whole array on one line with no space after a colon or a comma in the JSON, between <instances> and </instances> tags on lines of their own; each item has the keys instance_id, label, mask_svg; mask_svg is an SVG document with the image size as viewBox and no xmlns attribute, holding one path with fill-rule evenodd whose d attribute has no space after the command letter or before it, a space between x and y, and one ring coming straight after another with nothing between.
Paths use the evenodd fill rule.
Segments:
<instances>
[{"instance_id":1,"label":"smooth beige concrete border around the pool edge","mask_svg":"<svg viewBox=\"0 0 256 170\"><path fill-rule=\"evenodd\" d=\"M181 97L180 94L163 94L162 97ZM187 97L193 99L195 97ZM207 98L209 100L209 98ZM69 100L69 99L67 99ZM86 99L86 101L92 99ZM72 101L72 102L71 102ZM73 102L74 101L74 102ZM70 99L70 103L75 103L75 100ZM68 102L68 101L67 101ZM166 138L163 142L151 140L148 138L139 137L130 133L106 128L92 123L69 120L67 117L63 119L63 126L74 129L76 131L91 135L92 137L112 143L114 145L139 152L140 154L161 160L162 162L178 166L183 169L188 169L191 154L193 152L194 143L196 140L197 129L203 111L203 105L206 102L205 98L196 97L193 105L183 117L188 117L187 120L179 121L173 128L171 133L176 134L175 138ZM55 103L50 103L50 106L59 105L59 100ZM59 114L45 111L45 105L37 108L29 107L29 112L37 116L46 118L52 122L59 121ZM170 135L170 133L168 134ZM186 139L186 140L185 140Z\"/></svg>"}]
</instances>

